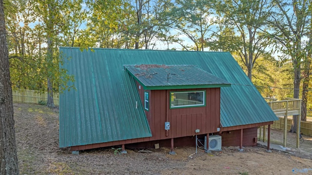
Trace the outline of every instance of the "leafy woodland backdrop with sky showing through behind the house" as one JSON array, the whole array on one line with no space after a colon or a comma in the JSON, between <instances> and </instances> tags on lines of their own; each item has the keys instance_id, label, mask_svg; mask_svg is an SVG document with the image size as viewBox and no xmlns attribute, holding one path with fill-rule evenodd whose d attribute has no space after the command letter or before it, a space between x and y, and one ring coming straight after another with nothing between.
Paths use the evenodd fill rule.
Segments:
<instances>
[{"instance_id":1,"label":"leafy woodland backdrop with sky showing through behind the house","mask_svg":"<svg viewBox=\"0 0 312 175\"><path fill-rule=\"evenodd\" d=\"M44 92L49 79L55 92L75 90L75 77L59 69L67 61L59 46L159 49L163 43L162 49L229 51L263 96L293 97L294 72L300 68L300 82L310 67L306 2L4 0L12 88ZM174 43L180 48L170 48Z\"/></svg>"}]
</instances>

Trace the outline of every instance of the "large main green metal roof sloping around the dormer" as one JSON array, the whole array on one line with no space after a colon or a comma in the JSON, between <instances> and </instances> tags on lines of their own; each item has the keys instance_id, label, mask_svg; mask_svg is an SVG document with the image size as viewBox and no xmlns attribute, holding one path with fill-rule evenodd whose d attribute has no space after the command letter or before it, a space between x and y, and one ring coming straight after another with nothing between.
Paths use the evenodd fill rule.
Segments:
<instances>
[{"instance_id":1,"label":"large main green metal roof sloping around the dormer","mask_svg":"<svg viewBox=\"0 0 312 175\"><path fill-rule=\"evenodd\" d=\"M151 136L135 79L124 65L195 65L231 87L221 88L223 127L277 120L253 83L228 52L156 51L61 47L61 68L77 90L60 94L60 147Z\"/></svg>"}]
</instances>

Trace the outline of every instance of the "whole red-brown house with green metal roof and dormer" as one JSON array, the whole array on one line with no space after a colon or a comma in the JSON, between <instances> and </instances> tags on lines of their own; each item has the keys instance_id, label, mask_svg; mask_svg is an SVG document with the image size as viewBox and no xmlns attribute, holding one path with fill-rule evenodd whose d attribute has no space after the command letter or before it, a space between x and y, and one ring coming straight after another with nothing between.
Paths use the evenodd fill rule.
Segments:
<instances>
[{"instance_id":1,"label":"whole red-brown house with green metal roof and dormer","mask_svg":"<svg viewBox=\"0 0 312 175\"><path fill-rule=\"evenodd\" d=\"M228 52L61 47L77 90L60 94L59 146L256 145L278 118ZM169 124L169 128L168 125Z\"/></svg>"}]
</instances>

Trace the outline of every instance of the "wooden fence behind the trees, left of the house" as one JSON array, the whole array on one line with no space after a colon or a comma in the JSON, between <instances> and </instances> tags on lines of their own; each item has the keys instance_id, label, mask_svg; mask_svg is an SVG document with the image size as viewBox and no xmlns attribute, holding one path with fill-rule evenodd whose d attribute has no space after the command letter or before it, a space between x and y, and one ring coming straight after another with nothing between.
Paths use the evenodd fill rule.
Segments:
<instances>
[{"instance_id":1,"label":"wooden fence behind the trees, left of the house","mask_svg":"<svg viewBox=\"0 0 312 175\"><path fill-rule=\"evenodd\" d=\"M32 90L16 90L12 91L13 102L20 103L36 103L39 101L46 102L48 99L48 93L38 93ZM53 93L54 105L59 106L59 93Z\"/></svg>"}]
</instances>

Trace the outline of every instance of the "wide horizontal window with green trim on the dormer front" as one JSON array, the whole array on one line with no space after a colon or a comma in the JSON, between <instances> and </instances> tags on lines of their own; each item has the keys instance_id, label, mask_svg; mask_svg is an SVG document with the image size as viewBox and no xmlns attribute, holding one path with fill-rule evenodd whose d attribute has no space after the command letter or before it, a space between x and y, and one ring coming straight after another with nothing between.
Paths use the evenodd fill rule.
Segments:
<instances>
[{"instance_id":1,"label":"wide horizontal window with green trim on the dormer front","mask_svg":"<svg viewBox=\"0 0 312 175\"><path fill-rule=\"evenodd\" d=\"M205 106L205 91L170 92L170 108Z\"/></svg>"}]
</instances>

